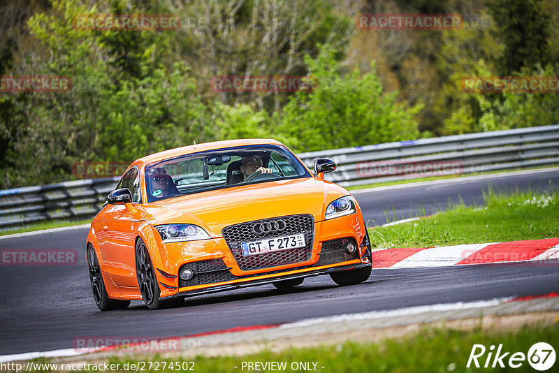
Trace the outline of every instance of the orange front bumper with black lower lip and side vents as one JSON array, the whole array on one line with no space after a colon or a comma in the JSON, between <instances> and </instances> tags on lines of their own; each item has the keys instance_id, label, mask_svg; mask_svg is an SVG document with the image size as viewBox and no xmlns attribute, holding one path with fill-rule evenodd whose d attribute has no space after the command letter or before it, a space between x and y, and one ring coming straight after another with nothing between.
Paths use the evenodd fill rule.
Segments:
<instances>
[{"instance_id":1,"label":"orange front bumper with black lower lip and side vents","mask_svg":"<svg viewBox=\"0 0 559 373\"><path fill-rule=\"evenodd\" d=\"M223 237L166 244L168 269L163 272L173 276L157 271L161 298L226 291L370 266L370 243L363 219L358 215L361 214L314 223L312 250L304 261L266 268L240 268ZM358 246L354 254L344 250L343 245L349 240ZM195 275L197 281L181 280L177 275L182 266L194 269L199 274Z\"/></svg>"}]
</instances>

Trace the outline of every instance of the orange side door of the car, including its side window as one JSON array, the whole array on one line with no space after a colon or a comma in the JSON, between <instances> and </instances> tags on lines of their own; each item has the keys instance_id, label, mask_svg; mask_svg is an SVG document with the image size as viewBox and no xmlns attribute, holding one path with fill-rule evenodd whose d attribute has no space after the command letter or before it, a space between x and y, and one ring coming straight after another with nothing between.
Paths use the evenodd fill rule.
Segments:
<instances>
[{"instance_id":1,"label":"orange side door of the car, including its side window","mask_svg":"<svg viewBox=\"0 0 559 373\"><path fill-rule=\"evenodd\" d=\"M132 193L132 204L141 203L140 174L133 167L120 180L117 189L128 188ZM110 205L103 216L105 240L100 245L103 262L107 265L110 278L117 286L138 286L132 221L138 221L140 212L130 212L123 205Z\"/></svg>"}]
</instances>

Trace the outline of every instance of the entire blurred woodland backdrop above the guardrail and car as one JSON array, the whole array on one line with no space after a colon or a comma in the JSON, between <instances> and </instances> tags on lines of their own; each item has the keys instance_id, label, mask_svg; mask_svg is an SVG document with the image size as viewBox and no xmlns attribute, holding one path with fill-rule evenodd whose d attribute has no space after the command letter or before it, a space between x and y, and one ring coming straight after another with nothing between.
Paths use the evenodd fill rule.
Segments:
<instances>
[{"instance_id":1,"label":"entire blurred woodland backdrop above the guardrail and car","mask_svg":"<svg viewBox=\"0 0 559 373\"><path fill-rule=\"evenodd\" d=\"M170 31L84 31L77 15L173 14ZM465 27L358 29L361 13L458 13ZM557 94L472 94L463 78L559 76L559 0L4 0L0 189L70 180L78 161L277 138L297 152L559 123ZM483 23L479 23L483 20ZM312 76L313 92L215 92L212 77Z\"/></svg>"}]
</instances>

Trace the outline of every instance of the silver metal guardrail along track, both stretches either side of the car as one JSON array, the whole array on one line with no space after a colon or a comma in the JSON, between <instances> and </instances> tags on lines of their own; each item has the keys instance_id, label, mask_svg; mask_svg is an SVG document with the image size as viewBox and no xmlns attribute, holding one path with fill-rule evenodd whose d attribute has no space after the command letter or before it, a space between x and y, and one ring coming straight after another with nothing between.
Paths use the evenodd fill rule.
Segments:
<instances>
[{"instance_id":1,"label":"silver metal guardrail along track, both stretches either side of the car","mask_svg":"<svg viewBox=\"0 0 559 373\"><path fill-rule=\"evenodd\" d=\"M479 173L559 164L559 125L347 147L298 154L312 169L334 159L326 180L342 186L417 177ZM98 212L118 178L88 179L0 191L0 230L36 221L87 219Z\"/></svg>"}]
</instances>

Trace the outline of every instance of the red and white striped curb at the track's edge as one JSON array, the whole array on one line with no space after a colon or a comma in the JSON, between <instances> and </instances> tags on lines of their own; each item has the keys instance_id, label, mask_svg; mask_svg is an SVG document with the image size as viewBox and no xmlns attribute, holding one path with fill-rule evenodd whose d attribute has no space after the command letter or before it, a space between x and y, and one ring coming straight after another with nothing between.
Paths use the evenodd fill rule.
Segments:
<instances>
[{"instance_id":1,"label":"red and white striped curb at the track's edge","mask_svg":"<svg viewBox=\"0 0 559 373\"><path fill-rule=\"evenodd\" d=\"M372 251L373 268L423 268L551 260L559 261L559 238Z\"/></svg>"}]
</instances>

